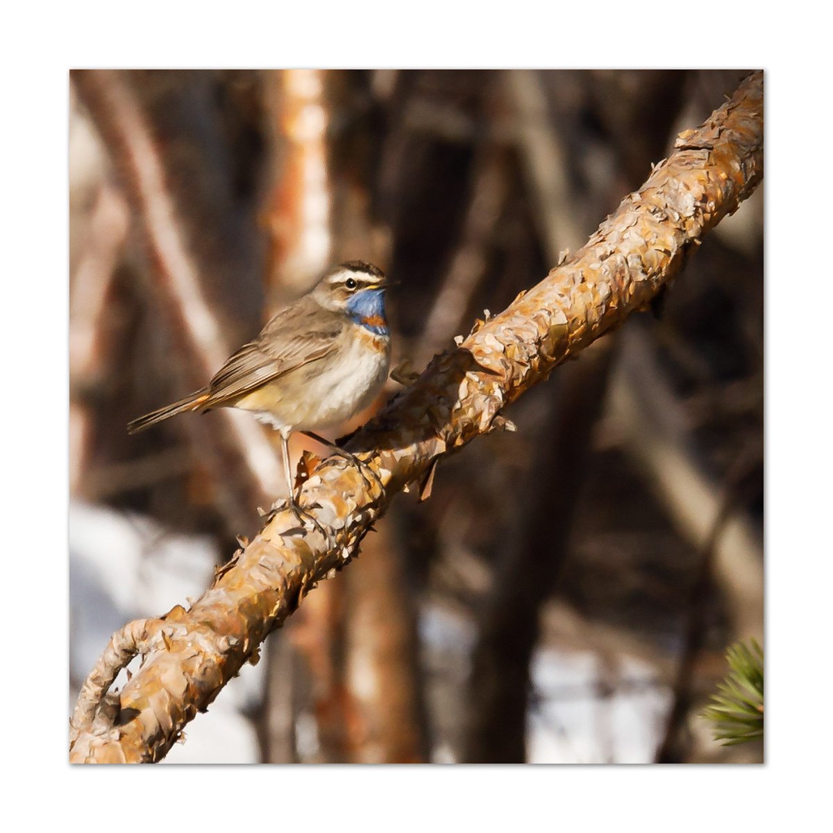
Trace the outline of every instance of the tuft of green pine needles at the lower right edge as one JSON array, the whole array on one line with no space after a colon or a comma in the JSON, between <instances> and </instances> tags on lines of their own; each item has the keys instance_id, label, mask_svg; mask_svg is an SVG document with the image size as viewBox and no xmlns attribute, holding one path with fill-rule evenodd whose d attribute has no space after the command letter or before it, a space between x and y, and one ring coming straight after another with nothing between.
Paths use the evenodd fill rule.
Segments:
<instances>
[{"instance_id":1,"label":"tuft of green pine needles at the lower right edge","mask_svg":"<svg viewBox=\"0 0 833 833\"><path fill-rule=\"evenodd\" d=\"M736 642L726 651L731 671L703 710L706 720L716 724L715 740L723 746L764 736L764 654L754 639L751 645Z\"/></svg>"}]
</instances>

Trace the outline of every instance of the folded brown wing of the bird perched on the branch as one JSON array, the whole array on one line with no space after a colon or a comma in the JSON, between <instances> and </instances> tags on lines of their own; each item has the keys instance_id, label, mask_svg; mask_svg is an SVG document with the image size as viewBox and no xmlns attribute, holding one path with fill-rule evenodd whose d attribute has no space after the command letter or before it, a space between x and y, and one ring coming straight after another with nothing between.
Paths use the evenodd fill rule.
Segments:
<instances>
[{"instance_id":1,"label":"folded brown wing of the bird perched on the branch","mask_svg":"<svg viewBox=\"0 0 833 833\"><path fill-rule=\"evenodd\" d=\"M260 335L228 358L208 383L202 407L236 401L336 349L342 318L307 297L278 312Z\"/></svg>"}]
</instances>

